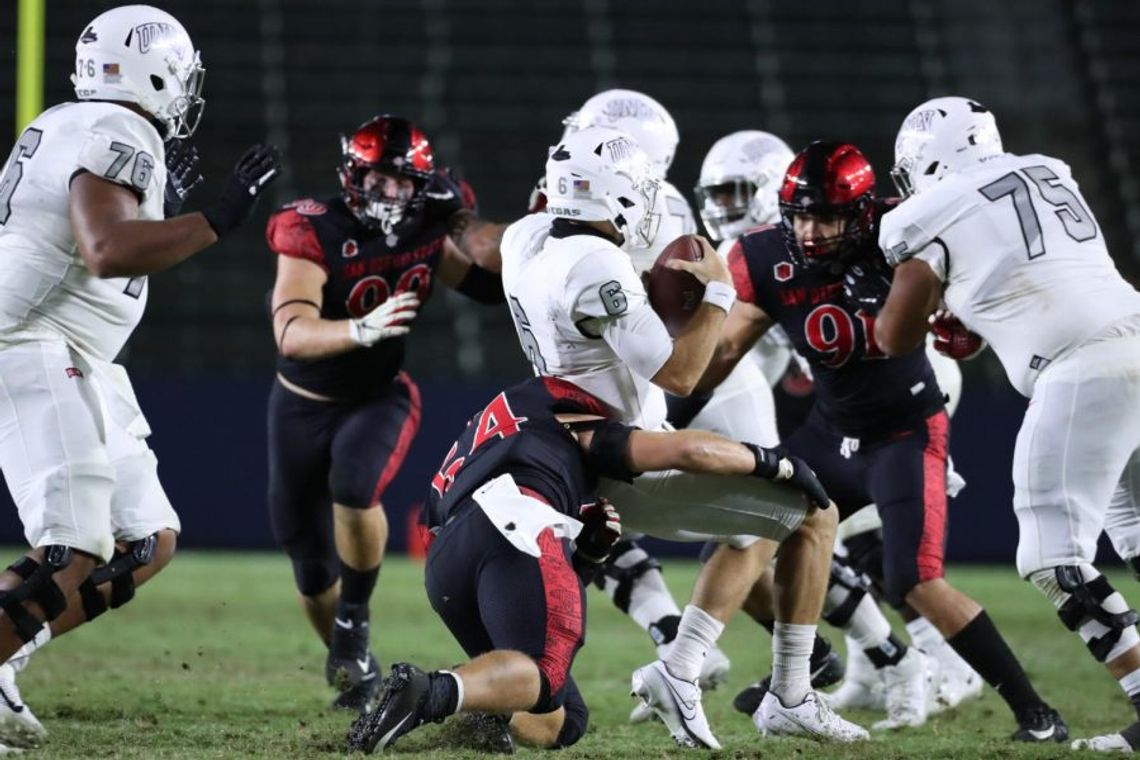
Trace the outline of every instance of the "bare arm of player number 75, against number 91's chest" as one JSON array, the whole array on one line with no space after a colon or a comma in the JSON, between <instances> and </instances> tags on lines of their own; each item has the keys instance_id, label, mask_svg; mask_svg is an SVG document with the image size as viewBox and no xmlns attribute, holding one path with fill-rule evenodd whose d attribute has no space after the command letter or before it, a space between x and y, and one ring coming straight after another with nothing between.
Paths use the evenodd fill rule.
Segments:
<instances>
[{"instance_id":1,"label":"bare arm of player number 75, against number 91's chest","mask_svg":"<svg viewBox=\"0 0 1140 760\"><path fill-rule=\"evenodd\" d=\"M895 268L895 278L874 320L874 341L888 357L907 354L926 340L929 317L942 301L942 283L921 259Z\"/></svg>"}]
</instances>

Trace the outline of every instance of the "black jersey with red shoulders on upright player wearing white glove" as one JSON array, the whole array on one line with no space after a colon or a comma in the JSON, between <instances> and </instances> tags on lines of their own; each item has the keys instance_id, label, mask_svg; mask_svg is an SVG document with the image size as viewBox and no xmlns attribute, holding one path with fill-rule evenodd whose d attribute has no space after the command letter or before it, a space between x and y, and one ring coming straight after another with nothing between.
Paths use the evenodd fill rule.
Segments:
<instances>
[{"instance_id":1,"label":"black jersey with red shoulders on upright player wearing white glove","mask_svg":"<svg viewBox=\"0 0 1140 760\"><path fill-rule=\"evenodd\" d=\"M340 196L294 201L275 212L266 228L269 248L306 259L328 275L321 296L324 319L359 318L405 291L431 294L443 251L447 219L425 210L420 224L385 235L361 224ZM327 359L300 361L278 354L277 371L296 385L339 400L367 398L396 377L404 363L402 337Z\"/></svg>"}]
</instances>

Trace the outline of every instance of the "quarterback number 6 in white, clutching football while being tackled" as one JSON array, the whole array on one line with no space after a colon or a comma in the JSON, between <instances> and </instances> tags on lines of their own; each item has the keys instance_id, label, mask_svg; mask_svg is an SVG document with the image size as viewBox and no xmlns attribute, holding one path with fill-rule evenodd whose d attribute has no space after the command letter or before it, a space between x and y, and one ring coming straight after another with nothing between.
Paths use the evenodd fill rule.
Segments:
<instances>
[{"instance_id":1,"label":"quarterback number 6 in white, clutching football while being tackled","mask_svg":"<svg viewBox=\"0 0 1140 760\"><path fill-rule=\"evenodd\" d=\"M504 289L536 373L573 382L614 407L625 422L656 428L665 422L662 390L678 395L692 390L732 299L726 297L724 262L703 243L701 261L670 264L706 283L705 303L676 341L649 307L625 253L651 245L659 223L653 212L658 181L646 163L622 132L594 126L568 136L546 163L548 213L512 224L502 252ZM798 477L800 468L788 474ZM676 472L604 482L603 492L621 505L635 530L679 540L741 533L768 539L742 540L705 565L673 647L663 661L635 671L633 690L679 743L718 747L700 704L701 662L782 541L773 690L793 705L782 726L788 733L864 738L862 728L819 702L808 677L834 515L830 508L805 510L795 493L760 485Z\"/></svg>"}]
</instances>

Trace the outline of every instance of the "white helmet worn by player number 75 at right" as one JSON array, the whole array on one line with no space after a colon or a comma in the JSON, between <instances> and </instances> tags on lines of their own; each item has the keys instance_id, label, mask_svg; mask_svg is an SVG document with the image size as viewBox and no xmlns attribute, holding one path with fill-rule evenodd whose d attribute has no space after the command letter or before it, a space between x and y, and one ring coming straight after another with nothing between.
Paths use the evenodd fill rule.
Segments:
<instances>
[{"instance_id":1,"label":"white helmet worn by player number 75 at right","mask_svg":"<svg viewBox=\"0 0 1140 760\"><path fill-rule=\"evenodd\" d=\"M934 98L903 121L890 179L905 198L950 172L1002 153L997 122L988 108L969 98Z\"/></svg>"}]
</instances>

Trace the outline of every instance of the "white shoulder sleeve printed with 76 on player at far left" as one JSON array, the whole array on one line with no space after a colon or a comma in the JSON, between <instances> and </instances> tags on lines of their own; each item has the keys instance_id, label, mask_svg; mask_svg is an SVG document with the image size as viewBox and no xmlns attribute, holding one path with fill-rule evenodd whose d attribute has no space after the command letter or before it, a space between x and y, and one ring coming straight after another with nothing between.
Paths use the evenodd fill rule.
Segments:
<instances>
[{"instance_id":1,"label":"white shoulder sleeve printed with 76 on player at far left","mask_svg":"<svg viewBox=\"0 0 1140 760\"><path fill-rule=\"evenodd\" d=\"M166 157L158 132L133 114L104 116L91 131L78 157L78 169L135 190L140 198L166 183Z\"/></svg>"}]
</instances>

